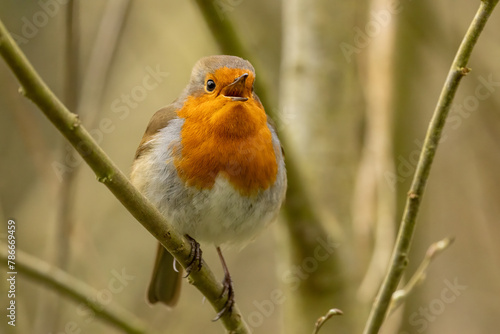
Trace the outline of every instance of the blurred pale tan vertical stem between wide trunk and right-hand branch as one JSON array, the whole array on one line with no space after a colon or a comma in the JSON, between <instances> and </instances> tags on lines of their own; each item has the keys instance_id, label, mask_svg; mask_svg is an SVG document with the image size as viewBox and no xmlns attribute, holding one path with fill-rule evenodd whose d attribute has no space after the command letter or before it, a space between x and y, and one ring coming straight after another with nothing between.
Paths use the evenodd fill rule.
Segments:
<instances>
[{"instance_id":1,"label":"blurred pale tan vertical stem between wide trunk and right-hand branch","mask_svg":"<svg viewBox=\"0 0 500 334\"><path fill-rule=\"evenodd\" d=\"M387 4L387 0L370 0L367 13L383 11ZM362 80L366 92L366 130L352 216L359 254L356 259L360 263L356 274L366 271L357 296L366 312L384 278L396 238L396 191L388 184L385 174L395 169L392 156L394 55L399 18L388 15L391 15L390 23L371 41L366 49L366 66L362 66L366 68Z\"/></svg>"}]
</instances>

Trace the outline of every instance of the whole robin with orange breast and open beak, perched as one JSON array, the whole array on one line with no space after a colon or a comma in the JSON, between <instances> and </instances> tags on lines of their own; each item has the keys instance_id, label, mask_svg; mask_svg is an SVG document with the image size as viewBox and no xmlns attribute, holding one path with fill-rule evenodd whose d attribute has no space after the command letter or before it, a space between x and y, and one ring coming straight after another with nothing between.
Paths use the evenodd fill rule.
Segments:
<instances>
[{"instance_id":1,"label":"whole robin with orange breast and open beak, perched","mask_svg":"<svg viewBox=\"0 0 500 334\"><path fill-rule=\"evenodd\" d=\"M234 303L220 247L241 248L275 220L287 187L281 144L254 81L244 59L200 59L180 97L153 115L132 166L133 184L191 242L192 264L201 265L197 241L215 245L227 292L216 319ZM159 245L149 302L173 307L181 277Z\"/></svg>"}]
</instances>

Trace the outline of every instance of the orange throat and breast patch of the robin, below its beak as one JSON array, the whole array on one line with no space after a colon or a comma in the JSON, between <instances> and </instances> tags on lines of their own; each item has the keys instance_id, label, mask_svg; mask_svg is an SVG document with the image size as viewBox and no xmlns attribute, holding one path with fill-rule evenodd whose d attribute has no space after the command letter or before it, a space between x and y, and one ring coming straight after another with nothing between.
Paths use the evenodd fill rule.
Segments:
<instances>
[{"instance_id":1,"label":"orange throat and breast patch of the robin, below its beak","mask_svg":"<svg viewBox=\"0 0 500 334\"><path fill-rule=\"evenodd\" d=\"M259 102L189 97L178 115L185 121L174 163L188 186L210 189L222 174L240 194L249 196L275 182L278 166Z\"/></svg>"}]
</instances>

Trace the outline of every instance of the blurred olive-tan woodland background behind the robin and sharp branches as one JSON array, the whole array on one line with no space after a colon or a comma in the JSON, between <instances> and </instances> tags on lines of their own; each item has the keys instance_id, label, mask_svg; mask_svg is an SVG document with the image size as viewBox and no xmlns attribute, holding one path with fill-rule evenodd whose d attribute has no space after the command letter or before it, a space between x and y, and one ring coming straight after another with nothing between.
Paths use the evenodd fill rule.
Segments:
<instances>
[{"instance_id":1,"label":"blurred olive-tan woodland background behind the robin and sharp branches","mask_svg":"<svg viewBox=\"0 0 500 334\"><path fill-rule=\"evenodd\" d=\"M200 2L1 0L0 19L128 174L153 113L180 94L199 58L222 52ZM278 223L242 251L226 252L243 317L254 333L310 333L319 316L339 308L344 316L320 333L359 333L427 125L479 1L209 3L212 20L232 25L246 49L237 55L256 66L265 89L257 93L267 97L292 170ZM455 241L383 333L496 333L500 326L498 31L497 10L444 129L404 280L432 243ZM156 240L18 93L3 60L0 87L0 239L14 219L18 250L86 282L102 304L121 305L149 330L223 332L188 284L173 310L146 303ZM222 278L212 247L204 256ZM17 326L4 316L1 332L121 332L27 276L18 275L17 292ZM6 293L0 302L7 305Z\"/></svg>"}]
</instances>

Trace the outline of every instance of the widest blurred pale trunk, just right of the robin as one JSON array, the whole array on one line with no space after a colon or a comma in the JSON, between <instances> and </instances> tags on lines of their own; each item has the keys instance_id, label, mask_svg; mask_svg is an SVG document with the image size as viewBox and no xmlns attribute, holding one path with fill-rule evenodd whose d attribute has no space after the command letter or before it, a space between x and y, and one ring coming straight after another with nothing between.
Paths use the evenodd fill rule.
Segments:
<instances>
[{"instance_id":1,"label":"widest blurred pale trunk, just right of the robin","mask_svg":"<svg viewBox=\"0 0 500 334\"><path fill-rule=\"evenodd\" d=\"M359 90L353 89L354 63L339 45L348 40L344 29L356 5L330 0L282 1L280 109L286 117L282 139L287 142L289 191L284 215L287 255L283 273L297 272L296 282L283 279L284 332L307 333L319 315L339 307L345 316L325 324L339 333L354 332L357 310L350 298L350 244L343 231L350 227L350 199L358 164ZM295 159L290 163L288 156ZM296 180L290 176L300 175ZM299 183L300 181L300 183ZM298 187L300 185L302 188ZM313 214L310 214L312 212ZM323 219L322 219L323 218ZM345 237L345 239L343 239ZM316 251L329 241L329 256ZM343 254L345 252L346 254ZM309 260L318 263L305 268ZM304 275L302 271L307 271Z\"/></svg>"}]
</instances>

